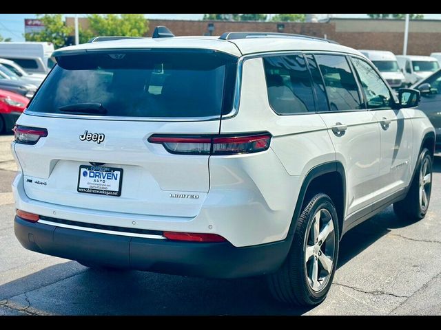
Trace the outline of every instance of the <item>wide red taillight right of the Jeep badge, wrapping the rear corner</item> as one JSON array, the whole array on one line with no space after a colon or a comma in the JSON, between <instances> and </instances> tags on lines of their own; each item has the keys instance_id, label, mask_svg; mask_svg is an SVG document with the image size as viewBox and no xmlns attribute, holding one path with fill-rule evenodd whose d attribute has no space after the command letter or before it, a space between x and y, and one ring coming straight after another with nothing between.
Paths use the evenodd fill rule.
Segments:
<instances>
[{"instance_id":1,"label":"wide red taillight right of the Jeep badge, wrapping the rear corner","mask_svg":"<svg viewBox=\"0 0 441 330\"><path fill-rule=\"evenodd\" d=\"M236 155L258 153L269 148L270 133L249 135L163 135L154 134L150 143L162 144L169 153L185 155Z\"/></svg>"}]
</instances>

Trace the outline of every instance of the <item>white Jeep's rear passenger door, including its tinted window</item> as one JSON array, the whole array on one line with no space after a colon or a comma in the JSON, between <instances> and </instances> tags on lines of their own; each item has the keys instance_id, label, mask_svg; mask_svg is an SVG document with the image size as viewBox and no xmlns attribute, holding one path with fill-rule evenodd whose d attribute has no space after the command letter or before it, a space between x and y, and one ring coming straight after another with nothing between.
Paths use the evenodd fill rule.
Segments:
<instances>
[{"instance_id":1,"label":"white Jeep's rear passenger door, including its tinted window","mask_svg":"<svg viewBox=\"0 0 441 330\"><path fill-rule=\"evenodd\" d=\"M320 113L346 172L346 214L376 199L380 131L373 113L362 111L360 89L345 56L314 55L325 83L329 108Z\"/></svg>"}]
</instances>

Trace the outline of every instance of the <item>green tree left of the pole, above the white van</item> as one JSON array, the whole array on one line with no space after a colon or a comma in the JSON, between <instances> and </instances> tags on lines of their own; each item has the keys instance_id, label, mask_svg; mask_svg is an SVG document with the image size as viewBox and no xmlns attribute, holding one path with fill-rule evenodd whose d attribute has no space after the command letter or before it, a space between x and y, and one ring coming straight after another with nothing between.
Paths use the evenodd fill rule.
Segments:
<instances>
[{"instance_id":1,"label":"green tree left of the pole, above the white van","mask_svg":"<svg viewBox=\"0 0 441 330\"><path fill-rule=\"evenodd\" d=\"M37 33L25 34L26 41L47 41L54 45L54 48L65 46L69 36L73 33L73 28L66 26L63 22L62 14L37 14L41 19L44 30Z\"/></svg>"}]
</instances>

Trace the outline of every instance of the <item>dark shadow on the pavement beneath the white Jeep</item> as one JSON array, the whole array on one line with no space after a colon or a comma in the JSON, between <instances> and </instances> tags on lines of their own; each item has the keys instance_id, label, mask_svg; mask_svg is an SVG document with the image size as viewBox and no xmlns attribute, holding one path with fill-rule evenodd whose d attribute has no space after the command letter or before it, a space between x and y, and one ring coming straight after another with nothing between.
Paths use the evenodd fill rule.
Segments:
<instances>
[{"instance_id":1,"label":"dark shadow on the pavement beneath the white Jeep","mask_svg":"<svg viewBox=\"0 0 441 330\"><path fill-rule=\"evenodd\" d=\"M388 208L354 228L341 241L338 267L389 228L405 225ZM63 315L298 315L309 310L272 300L264 278L209 280L92 270L74 261L1 285L0 300L5 298L24 307L29 301L37 313Z\"/></svg>"}]
</instances>

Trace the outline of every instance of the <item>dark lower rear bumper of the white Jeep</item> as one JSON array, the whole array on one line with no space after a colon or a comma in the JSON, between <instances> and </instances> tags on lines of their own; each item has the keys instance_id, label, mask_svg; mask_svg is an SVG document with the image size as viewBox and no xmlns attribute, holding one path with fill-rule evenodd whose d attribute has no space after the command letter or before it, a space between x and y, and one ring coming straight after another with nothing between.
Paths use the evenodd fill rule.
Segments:
<instances>
[{"instance_id":1,"label":"dark lower rear bumper of the white Jeep","mask_svg":"<svg viewBox=\"0 0 441 330\"><path fill-rule=\"evenodd\" d=\"M244 248L231 243L190 243L144 239L62 228L14 219L24 248L65 259L167 274L209 278L258 276L278 270L288 241Z\"/></svg>"}]
</instances>

